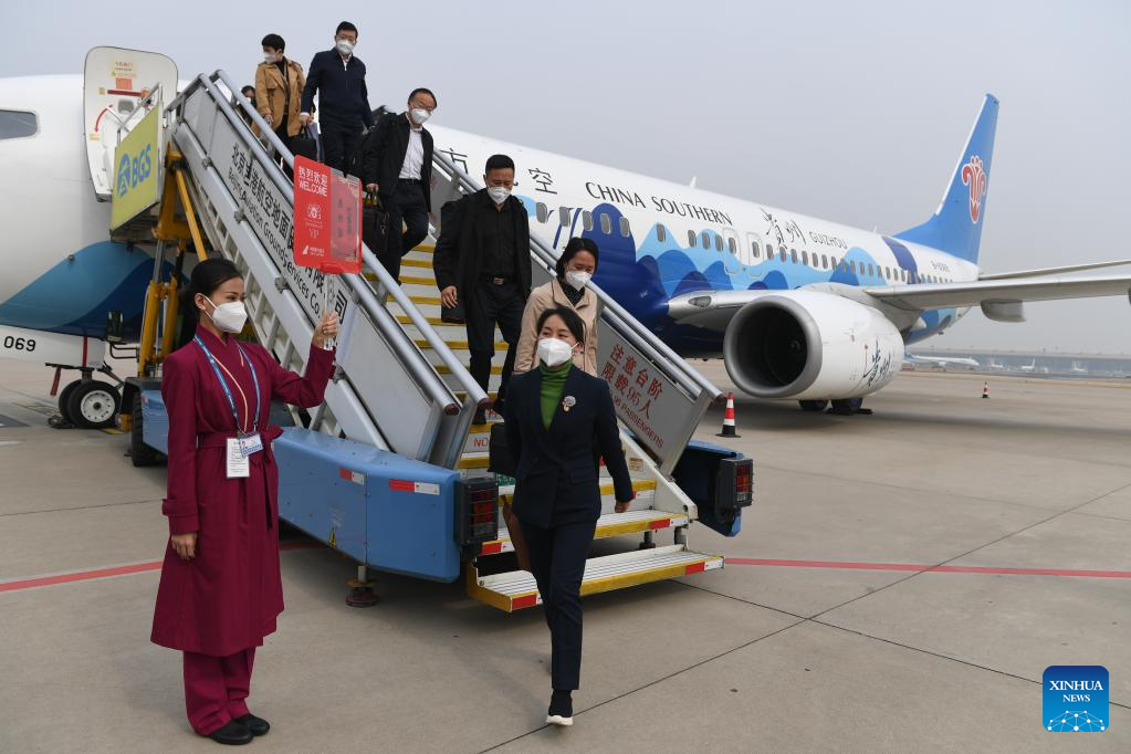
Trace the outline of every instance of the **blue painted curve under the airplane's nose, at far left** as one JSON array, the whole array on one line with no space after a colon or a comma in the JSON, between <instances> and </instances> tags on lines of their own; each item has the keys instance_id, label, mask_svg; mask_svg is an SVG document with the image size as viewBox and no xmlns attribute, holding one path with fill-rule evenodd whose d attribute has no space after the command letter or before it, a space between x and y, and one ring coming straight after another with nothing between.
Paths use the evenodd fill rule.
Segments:
<instances>
[{"instance_id":1,"label":"blue painted curve under the airplane's nose, at far left","mask_svg":"<svg viewBox=\"0 0 1131 754\"><path fill-rule=\"evenodd\" d=\"M106 313L122 312L127 339L141 329L153 258L123 243L100 241L74 253L0 303L0 323L105 338Z\"/></svg>"}]
</instances>

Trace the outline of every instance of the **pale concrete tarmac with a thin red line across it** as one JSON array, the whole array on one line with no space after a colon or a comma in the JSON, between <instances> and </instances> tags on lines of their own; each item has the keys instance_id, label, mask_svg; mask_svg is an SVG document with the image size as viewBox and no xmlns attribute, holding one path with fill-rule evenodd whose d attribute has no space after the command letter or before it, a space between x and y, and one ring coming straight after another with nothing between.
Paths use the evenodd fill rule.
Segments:
<instances>
[{"instance_id":1,"label":"pale concrete tarmac with a thin red line across it","mask_svg":"<svg viewBox=\"0 0 1131 754\"><path fill-rule=\"evenodd\" d=\"M291 536L251 748L1131 751L1131 384L983 381L905 374L873 416L736 396L728 440L713 409L698 436L756 463L742 532L691 530L727 565L586 598L569 729L543 725L541 608L386 574L351 608L352 564ZM165 470L50 428L49 382L0 363L0 752L216 751L148 640ZM1044 729L1051 665L1107 668L1107 730Z\"/></svg>"}]
</instances>

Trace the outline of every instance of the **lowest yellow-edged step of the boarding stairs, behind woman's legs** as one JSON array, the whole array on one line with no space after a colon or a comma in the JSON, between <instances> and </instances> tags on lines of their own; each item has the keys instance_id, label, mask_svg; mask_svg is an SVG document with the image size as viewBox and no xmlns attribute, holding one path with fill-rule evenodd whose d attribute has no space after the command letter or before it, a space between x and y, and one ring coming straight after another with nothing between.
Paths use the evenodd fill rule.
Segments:
<instances>
[{"instance_id":1,"label":"lowest yellow-edged step of the boarding stairs, behind woman's legs","mask_svg":"<svg viewBox=\"0 0 1131 754\"><path fill-rule=\"evenodd\" d=\"M581 595L595 595L624 589L651 581L664 581L700 571L723 567L718 555L690 551L685 545L589 558L581 579ZM534 577L526 571L510 571L481 577L474 565L467 566L467 593L507 613L534 607L542 601Z\"/></svg>"}]
</instances>

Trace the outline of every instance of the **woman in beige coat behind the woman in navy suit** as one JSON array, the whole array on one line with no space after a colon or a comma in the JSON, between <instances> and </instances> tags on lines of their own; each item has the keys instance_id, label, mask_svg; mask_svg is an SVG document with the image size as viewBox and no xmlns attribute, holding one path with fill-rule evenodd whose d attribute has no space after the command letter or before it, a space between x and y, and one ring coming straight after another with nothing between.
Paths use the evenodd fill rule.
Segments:
<instances>
[{"instance_id":1,"label":"woman in beige coat behind the woman in navy suit","mask_svg":"<svg viewBox=\"0 0 1131 754\"><path fill-rule=\"evenodd\" d=\"M597 374L597 320L601 303L589 291L588 283L597 272L597 244L590 239L573 237L558 259L558 277L530 292L523 312L523 327L515 356L515 373L529 372L538 364L537 323L547 309L566 306L577 312L585 322L585 348L573 355L573 365L584 372Z\"/></svg>"}]
</instances>

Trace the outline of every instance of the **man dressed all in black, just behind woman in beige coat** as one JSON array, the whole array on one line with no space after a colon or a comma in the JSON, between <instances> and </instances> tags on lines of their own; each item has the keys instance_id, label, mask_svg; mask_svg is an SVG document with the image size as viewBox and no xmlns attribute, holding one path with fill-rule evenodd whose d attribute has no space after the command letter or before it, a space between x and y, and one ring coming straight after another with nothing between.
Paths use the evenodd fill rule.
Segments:
<instances>
[{"instance_id":1,"label":"man dressed all in black, just behind woman in beige coat","mask_svg":"<svg viewBox=\"0 0 1131 754\"><path fill-rule=\"evenodd\" d=\"M526 206L510 194L515 161L491 156L483 182L486 188L449 201L440 210L433 269L442 305L464 309L472 353L468 371L484 391L491 380L497 324L507 341L494 404L495 413L502 414L523 310L530 295L530 223ZM476 411L475 424L485 419L483 409Z\"/></svg>"}]
</instances>

